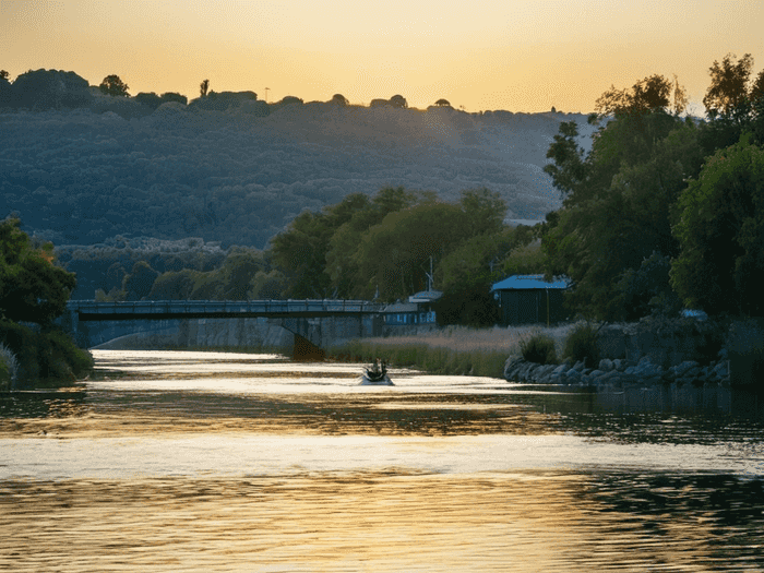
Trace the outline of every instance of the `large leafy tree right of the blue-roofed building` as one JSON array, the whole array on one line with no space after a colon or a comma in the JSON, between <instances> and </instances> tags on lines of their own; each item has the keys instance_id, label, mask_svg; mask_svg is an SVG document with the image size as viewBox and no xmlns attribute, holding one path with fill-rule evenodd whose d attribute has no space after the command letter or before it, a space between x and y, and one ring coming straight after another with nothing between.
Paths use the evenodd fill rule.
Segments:
<instances>
[{"instance_id":1,"label":"large leafy tree right of the blue-roofed building","mask_svg":"<svg viewBox=\"0 0 764 573\"><path fill-rule=\"evenodd\" d=\"M702 165L699 130L662 110L601 129L578 181L542 229L547 275L568 275L566 300L585 317L623 320L618 283L654 251L675 256L671 206ZM565 166L560 166L561 169Z\"/></svg>"}]
</instances>

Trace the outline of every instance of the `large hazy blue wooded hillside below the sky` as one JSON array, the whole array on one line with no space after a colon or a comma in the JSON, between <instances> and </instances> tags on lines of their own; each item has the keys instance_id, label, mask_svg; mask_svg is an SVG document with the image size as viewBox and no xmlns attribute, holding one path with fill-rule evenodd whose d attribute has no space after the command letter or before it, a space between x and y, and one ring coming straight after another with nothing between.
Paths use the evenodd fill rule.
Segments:
<instances>
[{"instance_id":1,"label":"large hazy blue wooded hillside below the sky","mask_svg":"<svg viewBox=\"0 0 764 573\"><path fill-rule=\"evenodd\" d=\"M559 112L312 103L260 117L254 104L0 112L0 213L58 246L192 236L263 248L303 208L404 186L446 200L487 187L509 218L536 219L560 204L542 172L559 122L592 129Z\"/></svg>"}]
</instances>

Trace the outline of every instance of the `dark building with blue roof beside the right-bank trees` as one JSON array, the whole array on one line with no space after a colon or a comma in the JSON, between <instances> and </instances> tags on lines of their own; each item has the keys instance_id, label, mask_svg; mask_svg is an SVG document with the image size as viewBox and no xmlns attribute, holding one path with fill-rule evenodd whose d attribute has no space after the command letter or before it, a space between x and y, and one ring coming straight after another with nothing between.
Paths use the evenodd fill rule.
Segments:
<instances>
[{"instance_id":1,"label":"dark building with blue roof beside the right-bank trees","mask_svg":"<svg viewBox=\"0 0 764 573\"><path fill-rule=\"evenodd\" d=\"M570 279L559 277L547 283L544 275L513 275L491 287L501 309L501 323L552 324L566 319L562 294Z\"/></svg>"}]
</instances>

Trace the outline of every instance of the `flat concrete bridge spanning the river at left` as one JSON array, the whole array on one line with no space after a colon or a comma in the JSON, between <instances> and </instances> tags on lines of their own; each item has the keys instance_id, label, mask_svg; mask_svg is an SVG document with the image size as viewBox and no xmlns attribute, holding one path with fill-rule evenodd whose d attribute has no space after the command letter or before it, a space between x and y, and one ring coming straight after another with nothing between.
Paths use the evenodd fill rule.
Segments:
<instances>
[{"instance_id":1,"label":"flat concrete bridge spanning the river at left","mask_svg":"<svg viewBox=\"0 0 764 573\"><path fill-rule=\"evenodd\" d=\"M291 333L295 358L308 359L344 341L380 336L383 308L366 300L71 300L59 322L83 348L136 333L177 347L252 346L266 324Z\"/></svg>"}]
</instances>

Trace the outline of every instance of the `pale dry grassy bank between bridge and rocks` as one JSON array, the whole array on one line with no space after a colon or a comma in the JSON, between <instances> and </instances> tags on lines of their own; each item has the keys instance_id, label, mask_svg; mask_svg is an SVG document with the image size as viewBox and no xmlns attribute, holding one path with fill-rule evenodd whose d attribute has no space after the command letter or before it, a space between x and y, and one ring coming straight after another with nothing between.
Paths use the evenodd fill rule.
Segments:
<instances>
[{"instance_id":1,"label":"pale dry grassy bank between bridge and rocks","mask_svg":"<svg viewBox=\"0 0 764 573\"><path fill-rule=\"evenodd\" d=\"M381 358L394 367L417 368L433 374L502 378L506 359L520 356L521 341L542 332L554 339L561 354L570 329L569 325L551 329L447 326L410 336L355 339L332 347L327 355L336 360L356 362L371 362Z\"/></svg>"}]
</instances>

